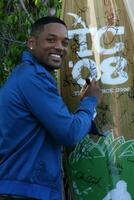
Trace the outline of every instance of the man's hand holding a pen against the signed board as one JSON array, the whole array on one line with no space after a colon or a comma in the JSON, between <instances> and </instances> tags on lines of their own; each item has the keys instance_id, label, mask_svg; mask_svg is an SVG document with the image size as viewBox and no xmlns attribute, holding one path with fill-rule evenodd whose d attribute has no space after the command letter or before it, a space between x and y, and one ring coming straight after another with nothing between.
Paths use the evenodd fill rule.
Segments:
<instances>
[{"instance_id":1,"label":"man's hand holding a pen against the signed board","mask_svg":"<svg viewBox=\"0 0 134 200\"><path fill-rule=\"evenodd\" d=\"M86 96L96 96L98 99L98 104L101 101L102 93L100 90L99 82L93 79L91 82L86 79L86 84L80 91L80 98L83 99Z\"/></svg>"}]
</instances>

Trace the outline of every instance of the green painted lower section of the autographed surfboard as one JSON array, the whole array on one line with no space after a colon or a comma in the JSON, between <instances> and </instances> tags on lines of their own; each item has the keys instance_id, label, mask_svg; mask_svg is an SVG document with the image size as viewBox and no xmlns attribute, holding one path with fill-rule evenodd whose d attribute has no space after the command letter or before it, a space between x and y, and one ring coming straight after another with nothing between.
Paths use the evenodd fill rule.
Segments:
<instances>
[{"instance_id":1,"label":"green painted lower section of the autographed surfboard","mask_svg":"<svg viewBox=\"0 0 134 200\"><path fill-rule=\"evenodd\" d=\"M116 193L118 183L127 184L123 195L134 198L134 140L114 138L112 131L106 134L97 142L87 136L69 156L76 200L102 200L109 191Z\"/></svg>"}]
</instances>

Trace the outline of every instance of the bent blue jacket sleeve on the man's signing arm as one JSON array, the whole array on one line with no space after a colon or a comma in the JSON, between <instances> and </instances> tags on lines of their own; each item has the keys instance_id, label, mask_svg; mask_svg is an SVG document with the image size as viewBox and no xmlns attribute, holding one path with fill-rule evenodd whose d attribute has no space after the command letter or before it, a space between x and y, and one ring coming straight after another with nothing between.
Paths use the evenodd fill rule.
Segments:
<instances>
[{"instance_id":1,"label":"bent blue jacket sleeve on the man's signing arm","mask_svg":"<svg viewBox=\"0 0 134 200\"><path fill-rule=\"evenodd\" d=\"M28 109L59 144L73 146L90 131L96 97L84 98L76 112L70 113L45 75L20 78L18 87Z\"/></svg>"}]
</instances>

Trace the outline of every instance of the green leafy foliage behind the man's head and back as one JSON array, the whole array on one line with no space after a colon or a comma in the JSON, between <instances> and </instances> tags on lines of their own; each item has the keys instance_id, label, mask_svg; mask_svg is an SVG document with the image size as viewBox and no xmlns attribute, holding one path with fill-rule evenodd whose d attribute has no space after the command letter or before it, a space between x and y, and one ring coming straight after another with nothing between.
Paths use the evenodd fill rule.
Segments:
<instances>
[{"instance_id":1,"label":"green leafy foliage behind the man's head and back","mask_svg":"<svg viewBox=\"0 0 134 200\"><path fill-rule=\"evenodd\" d=\"M0 1L0 85L20 62L31 23L46 15L60 17L61 4L62 0Z\"/></svg>"}]
</instances>

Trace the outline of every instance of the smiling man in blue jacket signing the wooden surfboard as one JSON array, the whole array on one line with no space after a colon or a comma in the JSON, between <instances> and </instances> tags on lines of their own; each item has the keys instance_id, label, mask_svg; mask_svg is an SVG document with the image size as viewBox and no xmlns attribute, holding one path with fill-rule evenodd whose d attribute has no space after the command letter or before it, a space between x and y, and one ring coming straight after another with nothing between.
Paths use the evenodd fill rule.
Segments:
<instances>
[{"instance_id":1,"label":"smiling man in blue jacket signing the wooden surfboard","mask_svg":"<svg viewBox=\"0 0 134 200\"><path fill-rule=\"evenodd\" d=\"M62 66L68 42L62 20L37 20L29 50L1 88L1 195L61 200L61 146L75 145L88 134L101 96L93 80L84 87L76 112L68 111L51 75Z\"/></svg>"}]
</instances>

